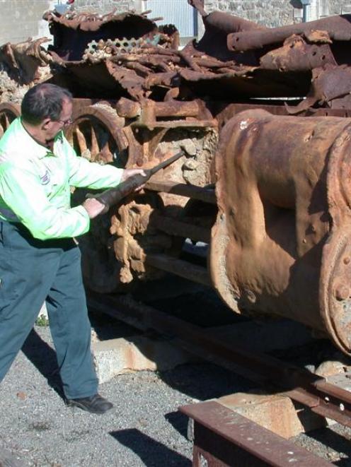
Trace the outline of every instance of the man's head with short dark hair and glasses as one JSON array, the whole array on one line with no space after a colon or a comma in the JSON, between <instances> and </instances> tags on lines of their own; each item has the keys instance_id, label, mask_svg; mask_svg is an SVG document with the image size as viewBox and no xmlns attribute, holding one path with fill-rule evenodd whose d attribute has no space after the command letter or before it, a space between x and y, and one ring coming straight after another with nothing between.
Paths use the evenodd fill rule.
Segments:
<instances>
[{"instance_id":1,"label":"man's head with short dark hair and glasses","mask_svg":"<svg viewBox=\"0 0 351 467\"><path fill-rule=\"evenodd\" d=\"M26 127L49 141L71 123L72 95L54 84L38 84L25 93L21 114Z\"/></svg>"}]
</instances>

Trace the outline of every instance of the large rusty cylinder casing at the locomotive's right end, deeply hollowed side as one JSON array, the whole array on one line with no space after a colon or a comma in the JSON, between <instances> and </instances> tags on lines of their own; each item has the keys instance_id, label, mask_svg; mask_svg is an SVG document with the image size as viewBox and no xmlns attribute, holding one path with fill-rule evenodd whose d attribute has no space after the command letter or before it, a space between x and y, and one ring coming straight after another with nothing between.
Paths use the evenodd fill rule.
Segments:
<instances>
[{"instance_id":1,"label":"large rusty cylinder casing at the locomotive's right end, deeply hollowed side","mask_svg":"<svg viewBox=\"0 0 351 467\"><path fill-rule=\"evenodd\" d=\"M215 288L236 312L279 314L351 353L351 120L249 110L221 132Z\"/></svg>"}]
</instances>

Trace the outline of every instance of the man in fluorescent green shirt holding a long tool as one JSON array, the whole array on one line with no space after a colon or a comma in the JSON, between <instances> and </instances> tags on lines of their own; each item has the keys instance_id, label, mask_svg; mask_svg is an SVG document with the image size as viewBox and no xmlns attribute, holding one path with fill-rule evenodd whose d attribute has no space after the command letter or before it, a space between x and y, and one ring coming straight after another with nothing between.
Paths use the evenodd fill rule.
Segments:
<instances>
[{"instance_id":1,"label":"man in fluorescent green shirt holding a long tool","mask_svg":"<svg viewBox=\"0 0 351 467\"><path fill-rule=\"evenodd\" d=\"M87 199L71 208L70 186L115 187L144 172L76 156L62 132L71 123L72 97L59 86L30 89L21 112L0 141L0 381L46 300L67 404L105 413L113 404L98 394L74 242L104 206Z\"/></svg>"}]
</instances>

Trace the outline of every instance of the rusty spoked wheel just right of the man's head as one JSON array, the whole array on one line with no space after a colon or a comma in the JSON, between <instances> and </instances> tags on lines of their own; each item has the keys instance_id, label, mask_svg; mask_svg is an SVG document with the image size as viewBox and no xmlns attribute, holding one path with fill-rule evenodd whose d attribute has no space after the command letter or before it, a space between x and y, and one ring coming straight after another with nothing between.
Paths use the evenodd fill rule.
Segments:
<instances>
[{"instance_id":1,"label":"rusty spoked wheel just right of the man's head","mask_svg":"<svg viewBox=\"0 0 351 467\"><path fill-rule=\"evenodd\" d=\"M107 104L84 107L66 131L66 137L78 155L102 164L127 163L127 139L122 127L125 119Z\"/></svg>"}]
</instances>

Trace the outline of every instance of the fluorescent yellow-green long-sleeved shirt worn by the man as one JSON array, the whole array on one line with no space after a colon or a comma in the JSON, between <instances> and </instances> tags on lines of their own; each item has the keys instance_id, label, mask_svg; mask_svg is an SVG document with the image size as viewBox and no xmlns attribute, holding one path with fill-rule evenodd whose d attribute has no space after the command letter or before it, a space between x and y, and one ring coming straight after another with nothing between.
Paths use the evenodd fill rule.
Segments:
<instances>
[{"instance_id":1,"label":"fluorescent yellow-green long-sleeved shirt worn by the man","mask_svg":"<svg viewBox=\"0 0 351 467\"><path fill-rule=\"evenodd\" d=\"M52 153L19 117L0 141L0 220L23 223L40 240L82 235L90 219L83 206L71 208L70 187L115 187L122 172L78 157L62 131Z\"/></svg>"}]
</instances>

